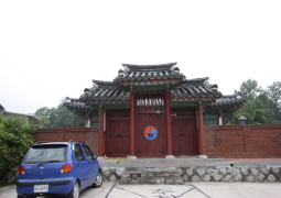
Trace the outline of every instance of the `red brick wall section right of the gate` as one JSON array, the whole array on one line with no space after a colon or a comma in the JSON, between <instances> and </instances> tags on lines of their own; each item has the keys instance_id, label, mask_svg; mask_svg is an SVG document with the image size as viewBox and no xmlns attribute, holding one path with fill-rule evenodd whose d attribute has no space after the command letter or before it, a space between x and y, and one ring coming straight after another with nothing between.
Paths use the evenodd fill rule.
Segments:
<instances>
[{"instance_id":1,"label":"red brick wall section right of the gate","mask_svg":"<svg viewBox=\"0 0 281 198\"><path fill-rule=\"evenodd\" d=\"M208 157L281 157L281 124L205 125Z\"/></svg>"}]
</instances>

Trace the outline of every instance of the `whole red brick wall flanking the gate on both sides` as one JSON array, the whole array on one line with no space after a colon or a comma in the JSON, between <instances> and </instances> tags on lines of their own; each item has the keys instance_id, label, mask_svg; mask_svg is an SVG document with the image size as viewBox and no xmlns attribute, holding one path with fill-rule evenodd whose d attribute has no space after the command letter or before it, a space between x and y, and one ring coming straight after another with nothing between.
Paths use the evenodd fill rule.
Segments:
<instances>
[{"instance_id":1,"label":"whole red brick wall flanking the gate on both sides","mask_svg":"<svg viewBox=\"0 0 281 198\"><path fill-rule=\"evenodd\" d=\"M281 124L204 125L208 157L281 157ZM98 154L98 128L39 129L36 141L80 140Z\"/></svg>"}]
</instances>

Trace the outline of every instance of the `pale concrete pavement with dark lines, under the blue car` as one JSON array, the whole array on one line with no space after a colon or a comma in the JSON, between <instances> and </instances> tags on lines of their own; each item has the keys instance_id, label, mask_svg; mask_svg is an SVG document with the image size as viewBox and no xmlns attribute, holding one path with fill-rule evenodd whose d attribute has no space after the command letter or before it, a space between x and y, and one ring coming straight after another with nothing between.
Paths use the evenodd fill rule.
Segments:
<instances>
[{"instance_id":1,"label":"pale concrete pavement with dark lines, under the blue car","mask_svg":"<svg viewBox=\"0 0 281 198\"><path fill-rule=\"evenodd\" d=\"M114 182L105 182L100 188L83 190L80 198L281 198L280 189L280 183L119 185ZM15 197L15 185L0 188L0 198Z\"/></svg>"}]
</instances>

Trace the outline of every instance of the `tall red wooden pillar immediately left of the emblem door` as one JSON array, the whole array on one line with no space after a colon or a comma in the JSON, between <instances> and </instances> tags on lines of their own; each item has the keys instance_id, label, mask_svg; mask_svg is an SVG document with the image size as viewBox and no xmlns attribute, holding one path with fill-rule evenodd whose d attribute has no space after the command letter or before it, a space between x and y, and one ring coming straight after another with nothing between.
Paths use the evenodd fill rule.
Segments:
<instances>
[{"instance_id":1,"label":"tall red wooden pillar immediately left of the emblem door","mask_svg":"<svg viewBox=\"0 0 281 198\"><path fill-rule=\"evenodd\" d=\"M132 91L131 88L131 107L130 107L130 156L129 158L137 158L136 157L136 94Z\"/></svg>"}]
</instances>

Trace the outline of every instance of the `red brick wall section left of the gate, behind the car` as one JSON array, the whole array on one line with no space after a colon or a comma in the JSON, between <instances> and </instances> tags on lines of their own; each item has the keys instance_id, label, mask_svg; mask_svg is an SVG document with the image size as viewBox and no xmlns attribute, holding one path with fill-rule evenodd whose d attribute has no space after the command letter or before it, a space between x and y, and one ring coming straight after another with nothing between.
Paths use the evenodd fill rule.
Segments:
<instances>
[{"instance_id":1,"label":"red brick wall section left of the gate, behind the car","mask_svg":"<svg viewBox=\"0 0 281 198\"><path fill-rule=\"evenodd\" d=\"M98 128L51 128L39 129L33 138L39 141L68 142L84 141L98 155Z\"/></svg>"}]
</instances>

